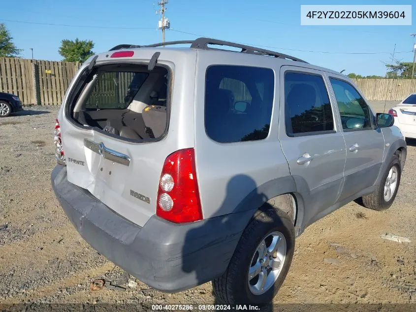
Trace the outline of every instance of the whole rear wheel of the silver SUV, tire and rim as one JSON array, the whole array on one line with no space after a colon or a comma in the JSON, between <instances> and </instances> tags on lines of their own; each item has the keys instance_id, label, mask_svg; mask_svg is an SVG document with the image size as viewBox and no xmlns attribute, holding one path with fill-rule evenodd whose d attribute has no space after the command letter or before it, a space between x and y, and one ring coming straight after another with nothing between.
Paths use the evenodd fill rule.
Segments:
<instances>
[{"instance_id":1,"label":"whole rear wheel of the silver SUV, tire and rim","mask_svg":"<svg viewBox=\"0 0 416 312\"><path fill-rule=\"evenodd\" d=\"M270 303L288 274L295 234L292 221L275 208L257 211L234 251L227 271L212 281L226 304Z\"/></svg>"}]
</instances>

